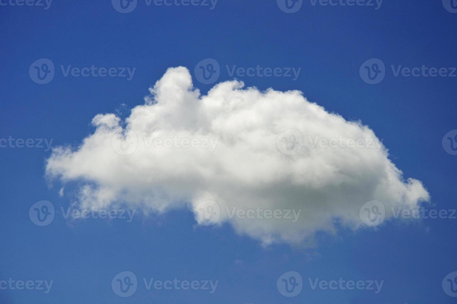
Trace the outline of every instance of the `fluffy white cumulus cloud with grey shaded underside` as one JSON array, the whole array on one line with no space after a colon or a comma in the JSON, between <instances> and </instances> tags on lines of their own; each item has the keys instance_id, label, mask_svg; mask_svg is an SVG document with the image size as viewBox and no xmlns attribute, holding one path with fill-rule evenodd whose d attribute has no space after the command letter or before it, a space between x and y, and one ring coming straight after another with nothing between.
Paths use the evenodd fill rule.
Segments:
<instances>
[{"instance_id":1,"label":"fluffy white cumulus cloud with grey shaded underside","mask_svg":"<svg viewBox=\"0 0 457 304\"><path fill-rule=\"evenodd\" d=\"M168 69L149 91L127 119L98 114L79 146L53 149L47 175L77 181L81 208L122 204L161 213L188 206L205 225L200 210L213 201L218 225L270 244L303 243L333 232L335 222L357 229L367 201L382 201L388 219L391 207L429 200L371 129L299 91L261 92L234 80L202 96L185 67ZM246 218L239 210L300 213L294 222L292 213L292 220L258 212Z\"/></svg>"}]
</instances>

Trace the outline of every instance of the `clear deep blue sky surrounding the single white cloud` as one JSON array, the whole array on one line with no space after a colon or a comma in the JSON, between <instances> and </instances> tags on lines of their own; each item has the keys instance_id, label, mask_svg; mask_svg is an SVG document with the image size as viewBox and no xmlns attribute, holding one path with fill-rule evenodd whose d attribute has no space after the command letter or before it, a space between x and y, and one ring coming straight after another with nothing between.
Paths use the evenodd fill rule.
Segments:
<instances>
[{"instance_id":1,"label":"clear deep blue sky surrounding the single white cloud","mask_svg":"<svg viewBox=\"0 0 457 304\"><path fill-rule=\"evenodd\" d=\"M218 0L213 9L210 1L208 6L158 6L138 0L129 13L118 12L110 1L53 0L48 9L46 2L0 2L5 4L0 6L0 139L34 139L34 145L35 139L52 139L53 147L77 146L94 132L90 121L97 114L128 117L169 67L187 67L194 86L206 94L214 83L199 82L194 69L213 58L220 65L217 82L236 77L260 90L300 90L330 113L360 119L383 139L389 159L404 176L423 183L430 208L456 208L457 156L446 152L442 139L457 129L457 77L395 77L391 68L425 65L450 72L457 67L457 14L439 0L384 0L379 9L375 1L374 6L330 6L303 0L291 14L275 0ZM55 67L47 84L34 82L29 74L41 58ZM359 73L372 58L385 65L378 84L366 83ZM61 65L115 67L117 74L123 67L136 69L130 80L65 77ZM226 65L301 70L296 80L230 77ZM78 181L65 185L65 195L59 196L61 182L45 177L52 151L44 140L43 146L0 148L0 281L52 280L52 289L48 294L0 290L0 303L455 302L441 283L457 271L457 219L390 220L357 230L341 225L335 234L318 232L314 247L284 242L265 247L227 223L198 225L186 208L149 216L137 211L132 222L70 221L60 208L75 201L71 193ZM42 200L51 201L56 211L51 224L38 227L29 209ZM125 298L111 284L123 271L138 278L137 291ZM291 298L276 286L289 271L303 277L303 290ZM143 278L217 280L218 286L213 294L147 290ZM308 278L384 282L375 294L313 290Z\"/></svg>"}]
</instances>

